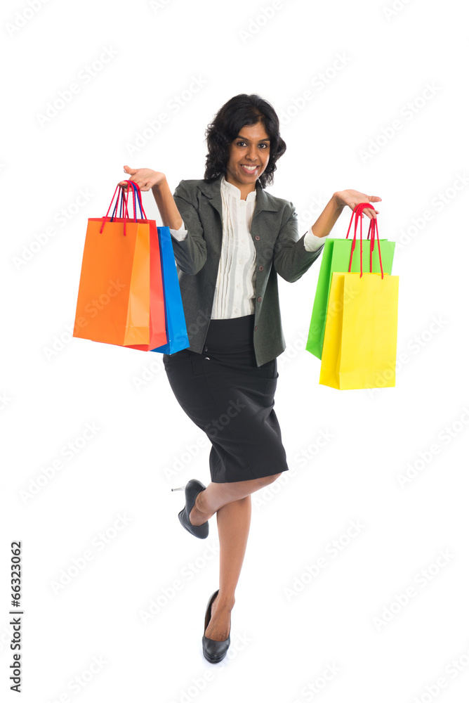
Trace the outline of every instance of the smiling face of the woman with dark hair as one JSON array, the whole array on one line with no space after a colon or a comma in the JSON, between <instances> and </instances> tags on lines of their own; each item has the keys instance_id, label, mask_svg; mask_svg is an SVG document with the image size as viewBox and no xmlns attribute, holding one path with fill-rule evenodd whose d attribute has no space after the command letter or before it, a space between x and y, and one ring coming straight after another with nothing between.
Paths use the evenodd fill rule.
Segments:
<instances>
[{"instance_id":1,"label":"smiling face of the woman with dark hair","mask_svg":"<svg viewBox=\"0 0 469 703\"><path fill-rule=\"evenodd\" d=\"M230 144L226 180L246 192L256 188L256 180L267 168L270 139L262 122L246 124ZM246 166L256 168L246 168ZM249 186L252 186L249 188Z\"/></svg>"}]
</instances>

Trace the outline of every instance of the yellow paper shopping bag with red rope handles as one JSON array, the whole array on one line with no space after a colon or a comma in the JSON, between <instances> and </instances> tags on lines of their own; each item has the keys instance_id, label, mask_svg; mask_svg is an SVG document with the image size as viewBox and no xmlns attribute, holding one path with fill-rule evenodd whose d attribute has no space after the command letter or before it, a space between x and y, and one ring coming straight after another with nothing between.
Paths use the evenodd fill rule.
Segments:
<instances>
[{"instance_id":1,"label":"yellow paper shopping bag with red rope handles","mask_svg":"<svg viewBox=\"0 0 469 703\"><path fill-rule=\"evenodd\" d=\"M361 256L359 273L350 261L331 277L319 384L340 390L395 386L399 276L384 273L376 219L371 227L381 273L364 272Z\"/></svg>"}]
</instances>

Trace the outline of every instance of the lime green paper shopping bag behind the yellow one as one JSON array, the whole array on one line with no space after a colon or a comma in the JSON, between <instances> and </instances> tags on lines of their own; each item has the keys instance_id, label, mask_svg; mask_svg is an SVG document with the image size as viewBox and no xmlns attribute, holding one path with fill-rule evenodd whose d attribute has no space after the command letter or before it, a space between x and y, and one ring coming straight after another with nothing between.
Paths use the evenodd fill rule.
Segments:
<instances>
[{"instance_id":1,"label":"lime green paper shopping bag behind the yellow one","mask_svg":"<svg viewBox=\"0 0 469 703\"><path fill-rule=\"evenodd\" d=\"M347 236L345 239L326 239L322 250L321 268L319 269L319 277L317 279L315 302L312 307L310 329L308 332L308 340L306 342L306 350L318 359L322 357L322 345L324 343L324 330L326 328L326 311L327 302L329 301L329 292L331 290L331 279L333 271L348 271L350 263L350 254L352 251L352 239L348 239L350 227L355 217L355 231L357 229L356 212L352 212L350 224L348 226ZM369 239L371 236L371 221L368 231L368 237L362 241L362 257L364 270L369 272L376 271L379 266L378 250L374 247ZM387 239L381 239L381 257L383 262L383 271L385 273L392 272L392 259L394 258L395 242L390 242ZM353 252L351 271L360 270L360 258L358 250Z\"/></svg>"}]
</instances>

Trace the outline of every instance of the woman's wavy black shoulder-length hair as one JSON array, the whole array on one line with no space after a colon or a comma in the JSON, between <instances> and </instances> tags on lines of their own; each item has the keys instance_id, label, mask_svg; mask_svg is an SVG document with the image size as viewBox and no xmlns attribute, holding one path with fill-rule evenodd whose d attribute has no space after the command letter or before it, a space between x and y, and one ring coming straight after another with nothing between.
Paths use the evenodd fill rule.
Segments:
<instances>
[{"instance_id":1,"label":"woman's wavy black shoulder-length hair","mask_svg":"<svg viewBox=\"0 0 469 703\"><path fill-rule=\"evenodd\" d=\"M230 98L216 113L205 131L209 153L206 155L204 179L213 181L220 174L227 174L230 143L237 138L246 124L262 122L270 138L269 162L258 178L262 188L274 182L277 160L285 153L286 143L280 136L279 118L272 105L256 93L240 93Z\"/></svg>"}]
</instances>

